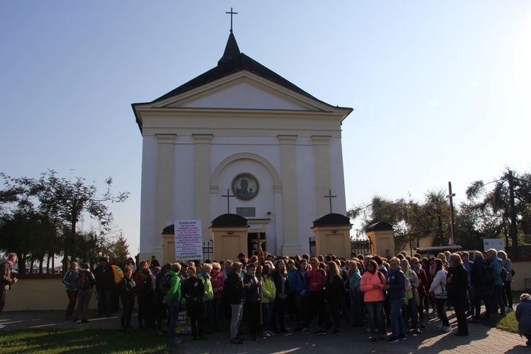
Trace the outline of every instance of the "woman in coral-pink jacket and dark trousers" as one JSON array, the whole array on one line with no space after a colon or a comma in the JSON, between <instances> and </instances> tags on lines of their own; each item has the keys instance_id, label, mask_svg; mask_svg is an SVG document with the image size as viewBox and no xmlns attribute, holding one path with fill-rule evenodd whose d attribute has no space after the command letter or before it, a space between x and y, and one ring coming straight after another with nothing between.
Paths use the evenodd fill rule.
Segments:
<instances>
[{"instance_id":1,"label":"woman in coral-pink jacket and dark trousers","mask_svg":"<svg viewBox=\"0 0 531 354\"><path fill-rule=\"evenodd\" d=\"M367 309L369 318L370 336L373 342L377 341L376 331L379 333L379 339L385 339L385 321L384 321L384 285L386 279L378 270L375 261L367 262L367 271L363 273L360 280L360 290L364 293L363 300Z\"/></svg>"}]
</instances>

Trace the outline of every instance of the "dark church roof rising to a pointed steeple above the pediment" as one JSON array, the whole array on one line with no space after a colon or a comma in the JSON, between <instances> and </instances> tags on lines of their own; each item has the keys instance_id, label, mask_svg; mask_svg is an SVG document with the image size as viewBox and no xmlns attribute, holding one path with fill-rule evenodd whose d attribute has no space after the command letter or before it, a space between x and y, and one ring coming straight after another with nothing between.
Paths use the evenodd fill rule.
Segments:
<instances>
[{"instance_id":1,"label":"dark church roof rising to a pointed steeple above the pediment","mask_svg":"<svg viewBox=\"0 0 531 354\"><path fill-rule=\"evenodd\" d=\"M253 74L263 76L265 79L269 79L270 81L280 84L286 87L287 89L291 89L292 91L301 93L304 96L322 102L307 93L306 91L300 89L295 84L292 84L290 81L287 81L282 76L264 67L259 62L256 62L256 60L244 55L244 53L241 53L238 47L238 43L236 42L236 38L234 37L234 33L230 33L229 40L227 40L227 46L225 47L225 52L223 53L223 57L219 59L219 62L217 62L217 67L210 69L209 71L205 72L204 74L201 74L200 76L197 76L195 79L191 79L186 84L179 86L177 89L173 89L169 93L166 93L164 96L156 98L156 100L152 101L151 103L162 101L166 98L170 98L173 96L177 96L180 93L195 89L196 87L202 86L217 79L221 79L224 76L234 74L235 72L239 72L241 70L248 70ZM137 104L142 103L134 103L133 107Z\"/></svg>"}]
</instances>

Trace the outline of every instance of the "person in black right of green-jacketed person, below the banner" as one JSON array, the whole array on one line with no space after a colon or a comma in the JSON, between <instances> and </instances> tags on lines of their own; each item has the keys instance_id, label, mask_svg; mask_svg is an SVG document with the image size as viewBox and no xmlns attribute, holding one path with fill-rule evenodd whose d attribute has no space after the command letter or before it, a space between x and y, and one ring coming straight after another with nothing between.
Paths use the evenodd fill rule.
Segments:
<instances>
[{"instance_id":1,"label":"person in black right of green-jacketed person, below the banner","mask_svg":"<svg viewBox=\"0 0 531 354\"><path fill-rule=\"evenodd\" d=\"M192 327L192 339L207 339L204 330L204 316L203 316L203 296L205 296L205 285L202 280L197 277L195 267L188 267L188 278L183 281L181 285L181 296L186 299L186 312L190 318L190 326Z\"/></svg>"}]
</instances>

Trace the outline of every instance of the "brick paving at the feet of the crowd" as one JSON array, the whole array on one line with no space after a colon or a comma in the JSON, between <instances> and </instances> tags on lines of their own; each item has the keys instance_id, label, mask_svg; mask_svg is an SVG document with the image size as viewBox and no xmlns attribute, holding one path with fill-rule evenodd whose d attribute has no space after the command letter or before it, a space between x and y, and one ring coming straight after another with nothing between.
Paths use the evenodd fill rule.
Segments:
<instances>
[{"instance_id":1,"label":"brick paving at the feet of the crowd","mask_svg":"<svg viewBox=\"0 0 531 354\"><path fill-rule=\"evenodd\" d=\"M96 311L89 313L88 324L73 323L64 319L64 312L33 311L4 312L0 315L0 329L118 329L120 317L95 319ZM450 314L450 313L449 313ZM91 317L92 316L92 317ZM133 319L133 324L137 320ZM455 328L455 316L450 316L450 323ZM290 324L287 321L287 324ZM409 335L406 341L387 343L371 342L363 328L343 326L341 334L332 336L316 336L299 333L278 334L273 338L261 339L258 342L244 341L241 345L229 343L227 326L218 333L208 336L208 341L192 341L190 336L181 336L183 343L176 345L175 353L531 353L525 341L518 334L491 329L483 324L469 324L470 336L458 337L452 333L437 331L438 321L431 320L426 329L418 335ZM289 327L289 326L288 326ZM154 333L154 336L156 334ZM0 349L1 352L1 349Z\"/></svg>"}]
</instances>

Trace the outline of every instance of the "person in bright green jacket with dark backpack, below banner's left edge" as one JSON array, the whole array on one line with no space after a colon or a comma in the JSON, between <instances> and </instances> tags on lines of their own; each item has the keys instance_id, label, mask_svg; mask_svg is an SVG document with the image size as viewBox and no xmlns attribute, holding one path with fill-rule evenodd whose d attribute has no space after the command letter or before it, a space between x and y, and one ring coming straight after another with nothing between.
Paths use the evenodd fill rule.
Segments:
<instances>
[{"instance_id":1,"label":"person in bright green jacket with dark backpack, below banner's left edge","mask_svg":"<svg viewBox=\"0 0 531 354\"><path fill-rule=\"evenodd\" d=\"M177 319L179 316L179 305L181 304L181 278L178 274L181 271L180 263L173 263L168 273L161 279L161 292L164 296L162 302L168 305L170 314L170 324L168 326L169 340L173 343L181 343L175 333Z\"/></svg>"}]
</instances>

